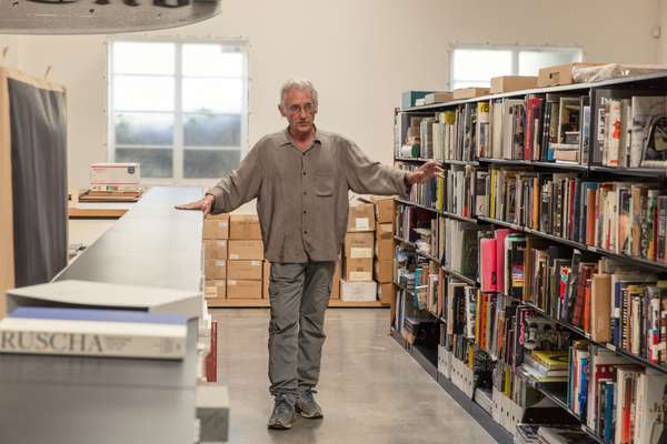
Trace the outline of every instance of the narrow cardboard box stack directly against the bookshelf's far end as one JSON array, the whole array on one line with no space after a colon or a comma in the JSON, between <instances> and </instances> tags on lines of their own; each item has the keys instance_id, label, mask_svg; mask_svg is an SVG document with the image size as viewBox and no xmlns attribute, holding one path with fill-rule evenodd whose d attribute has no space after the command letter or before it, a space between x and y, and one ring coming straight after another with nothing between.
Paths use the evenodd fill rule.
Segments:
<instances>
[{"instance_id":1,"label":"narrow cardboard box stack directly against the bookshelf's far end","mask_svg":"<svg viewBox=\"0 0 667 444\"><path fill-rule=\"evenodd\" d=\"M378 299L390 304L394 294L394 198L370 198L376 214L376 248L372 266L374 278L378 283Z\"/></svg>"}]
</instances>

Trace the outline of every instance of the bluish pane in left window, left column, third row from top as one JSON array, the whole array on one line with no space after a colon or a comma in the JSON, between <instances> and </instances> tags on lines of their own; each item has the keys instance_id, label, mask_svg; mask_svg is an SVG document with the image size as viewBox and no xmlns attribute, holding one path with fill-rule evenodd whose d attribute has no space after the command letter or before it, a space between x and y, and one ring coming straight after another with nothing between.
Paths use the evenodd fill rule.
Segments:
<instances>
[{"instance_id":1,"label":"bluish pane in left window, left column, third row from top","mask_svg":"<svg viewBox=\"0 0 667 444\"><path fill-rule=\"evenodd\" d=\"M121 145L173 144L173 114L117 113L115 125L116 143Z\"/></svg>"}]
</instances>

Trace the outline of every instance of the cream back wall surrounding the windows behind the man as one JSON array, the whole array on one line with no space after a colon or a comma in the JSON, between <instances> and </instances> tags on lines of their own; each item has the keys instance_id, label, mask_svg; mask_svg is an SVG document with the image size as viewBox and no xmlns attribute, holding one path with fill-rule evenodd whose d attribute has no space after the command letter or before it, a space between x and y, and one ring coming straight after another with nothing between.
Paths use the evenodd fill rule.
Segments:
<instances>
[{"instance_id":1,"label":"cream back wall surrounding the windows behind the man","mask_svg":"<svg viewBox=\"0 0 667 444\"><path fill-rule=\"evenodd\" d=\"M320 91L321 128L391 162L400 92L444 89L456 42L580 46L589 61L656 63L663 0L223 0L222 14L160 34L249 40L250 142L283 125L277 91L289 77ZM70 184L107 158L104 37L21 37L22 69L69 89Z\"/></svg>"}]
</instances>

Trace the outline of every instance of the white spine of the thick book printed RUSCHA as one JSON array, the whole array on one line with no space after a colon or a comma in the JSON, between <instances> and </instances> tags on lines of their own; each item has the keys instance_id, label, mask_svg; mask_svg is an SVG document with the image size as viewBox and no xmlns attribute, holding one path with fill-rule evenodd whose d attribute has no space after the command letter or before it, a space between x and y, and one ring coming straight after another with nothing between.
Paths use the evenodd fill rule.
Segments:
<instances>
[{"instance_id":1,"label":"white spine of the thick book printed RUSCHA","mask_svg":"<svg viewBox=\"0 0 667 444\"><path fill-rule=\"evenodd\" d=\"M187 325L4 317L0 352L178 360Z\"/></svg>"}]
</instances>

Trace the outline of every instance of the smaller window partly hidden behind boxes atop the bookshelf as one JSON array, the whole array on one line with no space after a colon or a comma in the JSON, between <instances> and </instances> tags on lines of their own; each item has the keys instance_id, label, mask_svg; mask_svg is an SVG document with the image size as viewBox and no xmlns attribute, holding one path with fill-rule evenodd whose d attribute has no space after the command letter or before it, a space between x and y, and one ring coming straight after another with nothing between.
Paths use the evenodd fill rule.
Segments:
<instances>
[{"instance_id":1,"label":"smaller window partly hidden behind boxes atop the bookshelf","mask_svg":"<svg viewBox=\"0 0 667 444\"><path fill-rule=\"evenodd\" d=\"M579 61L578 48L456 48L451 53L451 88L488 87L492 77L537 75L540 68Z\"/></svg>"}]
</instances>

